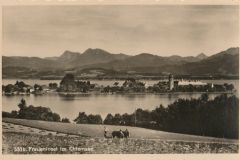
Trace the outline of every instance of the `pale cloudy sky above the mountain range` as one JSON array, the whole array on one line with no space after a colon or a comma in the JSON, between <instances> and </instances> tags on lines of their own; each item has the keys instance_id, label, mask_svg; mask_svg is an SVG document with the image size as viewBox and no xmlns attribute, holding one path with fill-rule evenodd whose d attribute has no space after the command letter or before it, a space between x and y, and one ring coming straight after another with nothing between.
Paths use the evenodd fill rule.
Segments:
<instances>
[{"instance_id":1,"label":"pale cloudy sky above the mountain range","mask_svg":"<svg viewBox=\"0 0 240 160\"><path fill-rule=\"evenodd\" d=\"M239 8L230 5L4 6L2 25L5 56L196 56L239 45Z\"/></svg>"}]
</instances>

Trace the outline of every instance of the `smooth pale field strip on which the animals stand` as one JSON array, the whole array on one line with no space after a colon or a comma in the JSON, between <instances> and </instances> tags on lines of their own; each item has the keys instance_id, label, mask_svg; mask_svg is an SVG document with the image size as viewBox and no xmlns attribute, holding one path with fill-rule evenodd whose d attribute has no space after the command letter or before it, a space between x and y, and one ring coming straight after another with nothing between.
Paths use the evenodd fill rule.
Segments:
<instances>
[{"instance_id":1,"label":"smooth pale field strip on which the animals stand","mask_svg":"<svg viewBox=\"0 0 240 160\"><path fill-rule=\"evenodd\" d=\"M3 118L3 122L28 126L37 129L43 129L48 131L54 131L58 133L80 135L86 137L103 137L103 125L89 125L89 124L71 124L71 123L58 123L58 122L47 122L37 120L25 120L25 119L13 119ZM185 141L185 142L218 142L218 143L238 143L238 140L224 139L224 138L213 138L204 136L194 136L178 133L170 133L163 131L156 131L151 129L144 129L138 127L127 127L127 126L107 126L109 131L113 130L125 130L126 128L130 132L130 138L139 139L158 139L158 140L173 140L173 141Z\"/></svg>"}]
</instances>

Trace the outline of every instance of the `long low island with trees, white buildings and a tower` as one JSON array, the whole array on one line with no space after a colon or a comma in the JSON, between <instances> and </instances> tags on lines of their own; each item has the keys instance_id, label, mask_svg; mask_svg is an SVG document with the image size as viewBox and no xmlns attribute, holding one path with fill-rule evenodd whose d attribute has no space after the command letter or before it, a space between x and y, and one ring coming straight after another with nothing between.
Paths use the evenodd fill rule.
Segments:
<instances>
[{"instance_id":1,"label":"long low island with trees, white buildings and a tower","mask_svg":"<svg viewBox=\"0 0 240 160\"><path fill-rule=\"evenodd\" d=\"M88 81L75 80L71 73L67 73L60 84L49 83L46 85L35 84L30 86L22 81L15 84L2 85L5 95L41 95L49 92L54 93L172 93L172 92L234 92L233 84L212 84L201 81L174 80L172 74L168 80L159 81L152 86L146 86L144 82L134 78L128 78L122 85L114 82L113 85L100 86Z\"/></svg>"}]
</instances>

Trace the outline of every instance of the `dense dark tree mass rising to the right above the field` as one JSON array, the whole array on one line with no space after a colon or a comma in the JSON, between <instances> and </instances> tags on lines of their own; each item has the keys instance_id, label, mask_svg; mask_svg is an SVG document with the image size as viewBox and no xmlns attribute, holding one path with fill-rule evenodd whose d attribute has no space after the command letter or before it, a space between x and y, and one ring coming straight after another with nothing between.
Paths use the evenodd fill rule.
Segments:
<instances>
[{"instance_id":1,"label":"dense dark tree mass rising to the right above the field","mask_svg":"<svg viewBox=\"0 0 240 160\"><path fill-rule=\"evenodd\" d=\"M132 114L108 114L104 124L238 139L239 99L223 94L209 100L203 94L198 99L178 99L151 111L139 108Z\"/></svg>"}]
</instances>

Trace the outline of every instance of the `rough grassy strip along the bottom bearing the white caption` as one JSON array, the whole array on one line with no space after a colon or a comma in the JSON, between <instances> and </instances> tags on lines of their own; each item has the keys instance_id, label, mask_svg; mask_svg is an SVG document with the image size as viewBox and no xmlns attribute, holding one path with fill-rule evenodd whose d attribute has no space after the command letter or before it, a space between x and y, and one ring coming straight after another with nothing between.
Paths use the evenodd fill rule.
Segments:
<instances>
[{"instance_id":1,"label":"rough grassy strip along the bottom bearing the white caption","mask_svg":"<svg viewBox=\"0 0 240 160\"><path fill-rule=\"evenodd\" d=\"M237 144L3 133L4 154L237 153ZM20 147L21 148L16 148ZM48 150L47 150L47 149ZM61 148L65 148L62 150ZM46 149L46 150L44 150Z\"/></svg>"}]
</instances>

